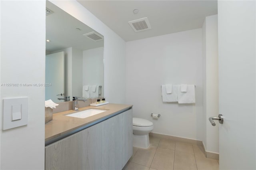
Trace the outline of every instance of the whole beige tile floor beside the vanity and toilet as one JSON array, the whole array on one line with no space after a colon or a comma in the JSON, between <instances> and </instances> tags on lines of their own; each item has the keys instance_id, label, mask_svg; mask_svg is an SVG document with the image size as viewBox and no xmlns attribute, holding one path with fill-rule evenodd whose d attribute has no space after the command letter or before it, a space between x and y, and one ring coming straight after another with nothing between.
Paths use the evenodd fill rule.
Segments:
<instances>
[{"instance_id":1,"label":"whole beige tile floor beside the vanity and toilet","mask_svg":"<svg viewBox=\"0 0 256 170\"><path fill-rule=\"evenodd\" d=\"M217 160L206 158L202 146L150 136L147 149L133 147L123 170L218 170Z\"/></svg>"}]
</instances>

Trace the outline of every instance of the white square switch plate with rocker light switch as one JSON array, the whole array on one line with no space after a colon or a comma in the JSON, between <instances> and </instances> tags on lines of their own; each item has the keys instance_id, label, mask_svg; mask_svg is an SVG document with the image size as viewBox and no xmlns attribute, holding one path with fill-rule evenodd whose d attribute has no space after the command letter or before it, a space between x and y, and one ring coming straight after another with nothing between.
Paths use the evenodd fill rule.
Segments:
<instances>
[{"instance_id":1,"label":"white square switch plate with rocker light switch","mask_svg":"<svg viewBox=\"0 0 256 170\"><path fill-rule=\"evenodd\" d=\"M28 97L3 99L3 130L28 125Z\"/></svg>"}]
</instances>

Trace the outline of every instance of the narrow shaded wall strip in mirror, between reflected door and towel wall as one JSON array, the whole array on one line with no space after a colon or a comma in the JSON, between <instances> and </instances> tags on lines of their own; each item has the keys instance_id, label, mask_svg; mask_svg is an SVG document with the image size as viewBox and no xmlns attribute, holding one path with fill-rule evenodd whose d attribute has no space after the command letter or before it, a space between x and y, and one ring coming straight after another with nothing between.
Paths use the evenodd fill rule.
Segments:
<instances>
[{"instance_id":1,"label":"narrow shaded wall strip in mirror, between reflected door and towel wall","mask_svg":"<svg viewBox=\"0 0 256 170\"><path fill-rule=\"evenodd\" d=\"M72 96L82 97L83 51L72 47Z\"/></svg>"}]
</instances>

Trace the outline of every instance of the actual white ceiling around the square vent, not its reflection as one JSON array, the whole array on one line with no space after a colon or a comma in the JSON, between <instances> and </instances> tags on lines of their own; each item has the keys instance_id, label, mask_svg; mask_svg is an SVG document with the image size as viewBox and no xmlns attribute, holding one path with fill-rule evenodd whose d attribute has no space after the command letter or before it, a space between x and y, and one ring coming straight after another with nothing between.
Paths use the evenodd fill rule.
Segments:
<instances>
[{"instance_id":1,"label":"actual white ceiling around the square vent, not its reflection","mask_svg":"<svg viewBox=\"0 0 256 170\"><path fill-rule=\"evenodd\" d=\"M217 0L78 0L126 42L202 28L217 14ZM133 10L138 9L138 14ZM134 32L128 21L148 17L151 30Z\"/></svg>"}]
</instances>

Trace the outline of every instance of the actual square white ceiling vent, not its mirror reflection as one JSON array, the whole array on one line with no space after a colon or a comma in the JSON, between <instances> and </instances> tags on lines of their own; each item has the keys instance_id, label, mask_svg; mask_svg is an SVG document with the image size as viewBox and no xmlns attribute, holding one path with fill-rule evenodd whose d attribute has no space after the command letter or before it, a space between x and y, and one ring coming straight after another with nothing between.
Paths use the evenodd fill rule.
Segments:
<instances>
[{"instance_id":1,"label":"actual square white ceiling vent, not its mirror reflection","mask_svg":"<svg viewBox=\"0 0 256 170\"><path fill-rule=\"evenodd\" d=\"M151 29L151 26L149 24L147 17L140 18L138 20L129 21L128 23L130 24L130 26L135 32Z\"/></svg>"}]
</instances>

